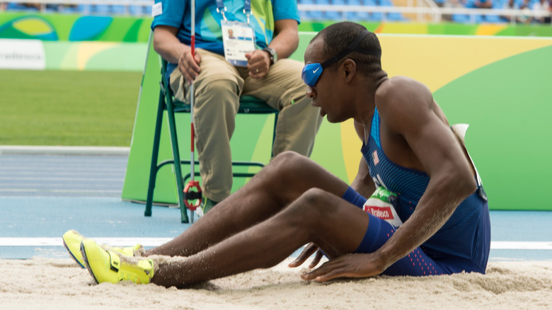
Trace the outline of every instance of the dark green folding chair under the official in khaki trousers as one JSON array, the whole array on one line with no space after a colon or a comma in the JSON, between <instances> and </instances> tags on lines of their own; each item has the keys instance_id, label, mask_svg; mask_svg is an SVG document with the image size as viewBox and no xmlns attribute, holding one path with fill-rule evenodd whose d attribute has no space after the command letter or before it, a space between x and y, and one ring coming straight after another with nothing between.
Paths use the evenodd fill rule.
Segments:
<instances>
[{"instance_id":1,"label":"dark green folding chair under the official in khaki trousers","mask_svg":"<svg viewBox=\"0 0 552 310\"><path fill-rule=\"evenodd\" d=\"M148 193L146 198L146 210L144 212L144 216L146 217L151 216L151 205L153 204L153 200L154 200L154 188L155 188L156 177L159 169L168 164L172 164L174 166L174 172L176 177L176 189L178 191L178 207L180 207L180 220L183 223L188 223L188 212L184 204L183 189L184 189L185 181L188 180L188 178L190 178L191 174L188 173L183 178L182 169L180 165L175 163L190 165L191 161L194 159L184 160L184 161L180 160L180 154L178 151L178 137L176 135L175 113L190 113L190 105L186 105L185 103L176 101L176 99L173 97L171 87L169 86L168 80L166 79L166 74L165 74L166 67L167 67L167 62L163 59L161 64L161 82L160 82L161 87L159 91L159 104L157 108L157 116L156 116L156 123L155 123L155 132L154 132L154 148L151 154L151 166L149 170L149 185L148 185ZM173 159L168 159L158 163L159 143L161 140L161 124L163 122L163 111L165 110L167 111L168 129L169 129L169 136L171 137L170 139L171 139L171 149L173 153ZM274 139L275 139L278 112L279 112L278 110L270 107L270 105L267 105L264 101L261 101L257 98L254 98L251 96L242 96L240 98L238 113L275 114L274 130L272 133L272 144L274 144ZM198 161L194 161L194 163L199 165ZM263 168L265 164L260 162L255 162L255 161L232 161L232 166L253 166L253 167ZM194 175L200 176L200 173L195 172ZM255 173L234 172L232 173L232 175L238 178L251 178L252 176L255 175Z\"/></svg>"}]
</instances>

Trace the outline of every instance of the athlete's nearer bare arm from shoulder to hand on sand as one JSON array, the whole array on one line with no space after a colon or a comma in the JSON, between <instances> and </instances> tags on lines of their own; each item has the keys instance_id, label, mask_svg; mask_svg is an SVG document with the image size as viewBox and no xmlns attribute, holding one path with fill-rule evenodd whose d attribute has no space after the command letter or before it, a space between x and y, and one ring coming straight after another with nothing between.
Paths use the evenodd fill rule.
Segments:
<instances>
[{"instance_id":1,"label":"athlete's nearer bare arm from shoulder to hand on sand","mask_svg":"<svg viewBox=\"0 0 552 310\"><path fill-rule=\"evenodd\" d=\"M378 251L334 258L304 275L305 279L379 275L435 234L460 202L475 192L471 166L452 130L434 112L433 103L429 89L417 81L394 78L382 84L376 93L382 147L398 164L419 165L430 183L410 219Z\"/></svg>"}]
</instances>

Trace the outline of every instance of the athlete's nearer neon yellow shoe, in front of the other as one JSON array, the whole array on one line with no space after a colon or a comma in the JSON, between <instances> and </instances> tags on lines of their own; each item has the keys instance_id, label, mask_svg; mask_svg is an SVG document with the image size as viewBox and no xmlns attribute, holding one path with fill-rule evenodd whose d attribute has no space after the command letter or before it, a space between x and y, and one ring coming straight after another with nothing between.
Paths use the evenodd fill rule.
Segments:
<instances>
[{"instance_id":1,"label":"athlete's nearer neon yellow shoe, in front of the other","mask_svg":"<svg viewBox=\"0 0 552 310\"><path fill-rule=\"evenodd\" d=\"M96 283L132 281L148 284L154 276L154 261L124 256L103 248L91 239L84 239L81 252L88 272Z\"/></svg>"}]
</instances>

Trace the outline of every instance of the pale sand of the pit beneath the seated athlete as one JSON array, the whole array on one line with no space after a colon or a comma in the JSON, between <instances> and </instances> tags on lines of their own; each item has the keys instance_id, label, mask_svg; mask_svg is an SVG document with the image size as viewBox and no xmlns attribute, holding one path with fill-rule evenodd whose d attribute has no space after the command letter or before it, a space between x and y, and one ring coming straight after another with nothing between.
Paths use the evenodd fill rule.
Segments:
<instances>
[{"instance_id":1,"label":"pale sand of the pit beneath the seated athlete","mask_svg":"<svg viewBox=\"0 0 552 310\"><path fill-rule=\"evenodd\" d=\"M552 309L552 262L491 262L487 275L305 282L285 264L195 289L93 285L70 259L0 260L0 309Z\"/></svg>"}]
</instances>

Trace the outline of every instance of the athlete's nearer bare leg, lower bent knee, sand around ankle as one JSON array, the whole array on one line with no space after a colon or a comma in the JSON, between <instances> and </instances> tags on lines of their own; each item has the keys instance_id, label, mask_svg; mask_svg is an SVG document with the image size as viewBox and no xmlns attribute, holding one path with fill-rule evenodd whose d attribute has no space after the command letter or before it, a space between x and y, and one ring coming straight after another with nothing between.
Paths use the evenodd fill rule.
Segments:
<instances>
[{"instance_id":1,"label":"athlete's nearer bare leg, lower bent knee, sand around ankle","mask_svg":"<svg viewBox=\"0 0 552 310\"><path fill-rule=\"evenodd\" d=\"M364 238L368 224L369 216L359 207L312 188L264 222L185 260L161 263L151 282L184 287L256 268L270 268L309 242L316 243L330 258L352 253Z\"/></svg>"}]
</instances>

